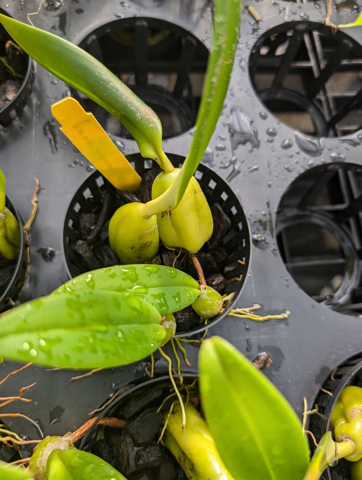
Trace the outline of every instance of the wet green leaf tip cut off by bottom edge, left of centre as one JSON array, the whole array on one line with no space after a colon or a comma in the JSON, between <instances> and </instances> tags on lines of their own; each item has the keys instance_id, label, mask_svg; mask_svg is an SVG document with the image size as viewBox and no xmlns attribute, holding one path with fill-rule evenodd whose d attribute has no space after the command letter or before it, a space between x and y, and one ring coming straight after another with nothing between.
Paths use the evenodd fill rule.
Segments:
<instances>
[{"instance_id":1,"label":"wet green leaf tip cut off by bottom edge, left of centre","mask_svg":"<svg viewBox=\"0 0 362 480\"><path fill-rule=\"evenodd\" d=\"M47 461L47 480L127 480L100 457L82 450L54 450Z\"/></svg>"}]
</instances>

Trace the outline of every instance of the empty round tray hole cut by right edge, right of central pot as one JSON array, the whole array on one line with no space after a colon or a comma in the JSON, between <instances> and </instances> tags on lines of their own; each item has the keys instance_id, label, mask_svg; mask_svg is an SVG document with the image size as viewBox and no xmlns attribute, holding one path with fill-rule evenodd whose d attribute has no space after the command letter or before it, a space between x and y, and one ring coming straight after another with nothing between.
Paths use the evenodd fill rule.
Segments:
<instances>
[{"instance_id":1,"label":"empty round tray hole cut by right edge, right of central pot","mask_svg":"<svg viewBox=\"0 0 362 480\"><path fill-rule=\"evenodd\" d=\"M350 315L362 311L362 167L311 168L283 194L277 244L294 280L310 297Z\"/></svg>"}]
</instances>

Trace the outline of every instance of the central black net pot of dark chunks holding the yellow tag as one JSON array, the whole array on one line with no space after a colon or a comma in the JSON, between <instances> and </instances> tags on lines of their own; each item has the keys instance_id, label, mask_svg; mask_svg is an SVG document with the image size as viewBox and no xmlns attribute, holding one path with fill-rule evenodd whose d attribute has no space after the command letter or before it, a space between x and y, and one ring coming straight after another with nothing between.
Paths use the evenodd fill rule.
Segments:
<instances>
[{"instance_id":1,"label":"central black net pot of dark chunks holding the yellow tag","mask_svg":"<svg viewBox=\"0 0 362 480\"><path fill-rule=\"evenodd\" d=\"M175 167L179 167L184 160L177 155L169 155L169 158ZM155 162L145 160L139 154L128 156L128 160L143 178L143 185L151 185L155 175L161 171ZM219 236L219 241L214 246L218 237L213 236L200 250L198 254L200 264L209 285L219 289L221 294L235 293L228 307L207 325L200 324L200 319L194 316L192 307L189 307L187 315L182 317L183 320L176 314L176 324L178 323L176 336L202 332L209 325L220 321L230 311L245 283L250 261L249 229L234 192L214 171L202 164L199 165L195 177L212 208L213 216L215 212L218 218L222 217L220 222L215 221L214 217L214 234ZM70 278L95 268L118 263L108 244L108 220L124 203L149 201L150 196L147 196L150 195L149 192L142 190L141 186L140 191L136 192L138 195L136 198L129 193L116 191L99 172L88 177L76 192L65 217L63 247ZM177 253L161 246L159 254L162 264L175 266L197 278L196 270L188 263L187 256L185 261L183 260L183 253L179 260L176 258ZM185 264L186 269L183 268Z\"/></svg>"}]
</instances>

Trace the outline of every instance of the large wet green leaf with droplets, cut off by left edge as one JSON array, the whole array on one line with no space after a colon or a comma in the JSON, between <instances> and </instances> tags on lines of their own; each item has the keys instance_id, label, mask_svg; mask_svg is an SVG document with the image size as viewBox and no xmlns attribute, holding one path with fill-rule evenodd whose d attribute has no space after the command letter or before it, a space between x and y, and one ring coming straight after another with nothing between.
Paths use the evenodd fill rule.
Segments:
<instances>
[{"instance_id":1,"label":"large wet green leaf with droplets, cut off by left edge","mask_svg":"<svg viewBox=\"0 0 362 480\"><path fill-rule=\"evenodd\" d=\"M127 292L50 295L0 317L0 354L72 369L126 365L150 355L165 330L161 315Z\"/></svg>"}]
</instances>

